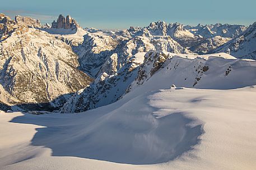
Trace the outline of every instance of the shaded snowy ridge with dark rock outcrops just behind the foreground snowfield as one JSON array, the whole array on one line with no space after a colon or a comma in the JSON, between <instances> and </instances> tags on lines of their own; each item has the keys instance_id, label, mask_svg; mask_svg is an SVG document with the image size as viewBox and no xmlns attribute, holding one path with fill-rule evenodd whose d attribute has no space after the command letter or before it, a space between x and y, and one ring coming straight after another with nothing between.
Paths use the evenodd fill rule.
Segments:
<instances>
[{"instance_id":1,"label":"shaded snowy ridge with dark rock outcrops just behind the foreground snowfield","mask_svg":"<svg viewBox=\"0 0 256 170\"><path fill-rule=\"evenodd\" d=\"M254 85L256 75L248 72L255 71L256 61L236 59L225 53L195 56L148 52L129 89L134 86L136 89L146 81L161 82L156 89L168 88L171 84L199 89L235 89Z\"/></svg>"}]
</instances>

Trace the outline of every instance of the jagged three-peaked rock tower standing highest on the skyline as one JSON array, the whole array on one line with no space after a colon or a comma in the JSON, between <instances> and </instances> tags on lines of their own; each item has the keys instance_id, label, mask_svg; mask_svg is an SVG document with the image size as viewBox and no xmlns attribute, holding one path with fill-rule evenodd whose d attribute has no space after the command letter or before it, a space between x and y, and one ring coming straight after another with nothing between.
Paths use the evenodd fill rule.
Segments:
<instances>
[{"instance_id":1,"label":"jagged three-peaked rock tower standing highest on the skyline","mask_svg":"<svg viewBox=\"0 0 256 170\"><path fill-rule=\"evenodd\" d=\"M52 28L76 29L77 27L79 25L71 16L65 18L62 14L59 15L57 22L55 20L52 22Z\"/></svg>"}]
</instances>

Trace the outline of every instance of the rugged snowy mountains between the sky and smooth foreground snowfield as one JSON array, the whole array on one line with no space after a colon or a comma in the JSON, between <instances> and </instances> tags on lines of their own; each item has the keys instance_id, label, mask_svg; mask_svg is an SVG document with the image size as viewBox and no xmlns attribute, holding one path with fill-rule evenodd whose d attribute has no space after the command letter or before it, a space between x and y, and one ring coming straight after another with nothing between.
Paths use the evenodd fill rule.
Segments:
<instances>
[{"instance_id":1,"label":"rugged snowy mountains between the sky and smooth foreground snowfield","mask_svg":"<svg viewBox=\"0 0 256 170\"><path fill-rule=\"evenodd\" d=\"M255 30L255 23L157 21L102 31L81 28L71 16L42 26L30 17L0 14L1 110L86 111L118 101L157 72L167 74L170 85L187 88L253 85L244 70L255 72Z\"/></svg>"}]
</instances>

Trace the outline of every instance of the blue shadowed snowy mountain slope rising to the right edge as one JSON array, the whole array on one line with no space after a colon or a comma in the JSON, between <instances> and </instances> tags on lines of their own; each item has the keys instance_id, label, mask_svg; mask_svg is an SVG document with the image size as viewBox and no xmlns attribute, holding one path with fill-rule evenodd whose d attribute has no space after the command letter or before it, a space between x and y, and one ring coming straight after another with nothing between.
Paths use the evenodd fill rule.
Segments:
<instances>
[{"instance_id":1,"label":"blue shadowed snowy mountain slope rising to the right edge","mask_svg":"<svg viewBox=\"0 0 256 170\"><path fill-rule=\"evenodd\" d=\"M256 22L250 25L239 37L232 39L213 52L226 52L243 59L256 59Z\"/></svg>"}]
</instances>

